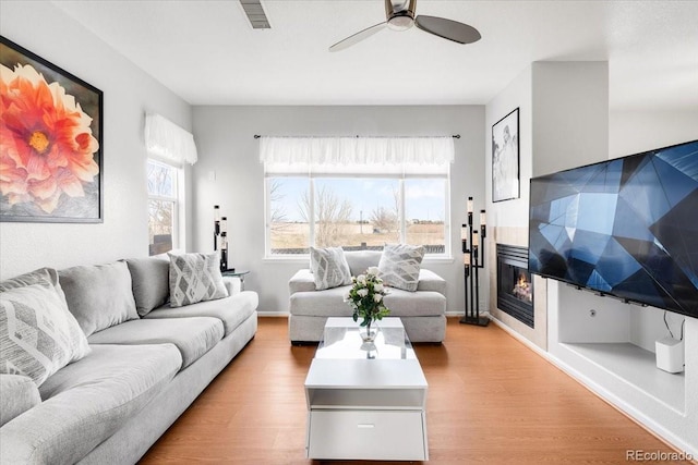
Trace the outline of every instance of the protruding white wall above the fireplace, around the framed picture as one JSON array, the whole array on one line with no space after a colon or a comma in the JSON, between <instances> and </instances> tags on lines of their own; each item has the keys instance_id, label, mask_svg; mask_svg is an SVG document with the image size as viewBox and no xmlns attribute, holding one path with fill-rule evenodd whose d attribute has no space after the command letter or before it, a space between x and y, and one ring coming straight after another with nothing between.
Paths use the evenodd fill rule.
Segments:
<instances>
[{"instance_id":1,"label":"protruding white wall above the fireplace, around the framed picture","mask_svg":"<svg viewBox=\"0 0 698 465\"><path fill-rule=\"evenodd\" d=\"M532 176L606 158L607 84L605 62L535 62L488 102L485 179L492 224L528 228ZM520 196L492 203L492 126L516 108Z\"/></svg>"}]
</instances>

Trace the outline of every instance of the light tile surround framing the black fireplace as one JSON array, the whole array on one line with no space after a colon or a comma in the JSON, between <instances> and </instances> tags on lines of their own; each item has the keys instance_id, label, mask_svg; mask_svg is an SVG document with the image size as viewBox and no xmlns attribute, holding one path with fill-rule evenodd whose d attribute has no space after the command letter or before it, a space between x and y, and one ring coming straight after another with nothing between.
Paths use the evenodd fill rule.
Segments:
<instances>
[{"instance_id":1,"label":"light tile surround framing the black fireplace","mask_svg":"<svg viewBox=\"0 0 698 465\"><path fill-rule=\"evenodd\" d=\"M495 227L493 230L494 231L491 233L492 245L488 244L488 264L485 267L489 273L490 283L497 282L497 257L495 244L528 247L528 230L526 228ZM542 350L547 350L547 281L545 279L539 276L533 276L534 328L528 327L507 313L496 308L496 285L490 285L490 314Z\"/></svg>"}]
</instances>

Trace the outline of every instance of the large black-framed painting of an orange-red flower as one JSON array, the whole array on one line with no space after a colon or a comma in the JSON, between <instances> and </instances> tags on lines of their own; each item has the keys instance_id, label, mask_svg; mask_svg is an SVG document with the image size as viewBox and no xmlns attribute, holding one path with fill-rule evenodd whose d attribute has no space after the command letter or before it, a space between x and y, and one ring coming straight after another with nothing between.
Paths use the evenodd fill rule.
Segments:
<instances>
[{"instance_id":1,"label":"large black-framed painting of an orange-red flower","mask_svg":"<svg viewBox=\"0 0 698 465\"><path fill-rule=\"evenodd\" d=\"M103 221L101 114L101 90L0 36L0 221Z\"/></svg>"}]
</instances>

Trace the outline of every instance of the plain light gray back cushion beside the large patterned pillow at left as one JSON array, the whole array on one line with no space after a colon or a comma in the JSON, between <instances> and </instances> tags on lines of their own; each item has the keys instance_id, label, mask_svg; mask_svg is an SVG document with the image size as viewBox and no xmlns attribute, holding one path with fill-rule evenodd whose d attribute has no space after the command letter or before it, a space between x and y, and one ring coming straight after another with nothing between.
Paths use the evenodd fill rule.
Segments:
<instances>
[{"instance_id":1,"label":"plain light gray back cushion beside the large patterned pillow at left","mask_svg":"<svg viewBox=\"0 0 698 465\"><path fill-rule=\"evenodd\" d=\"M79 266L58 276L68 308L85 335L139 318L125 262Z\"/></svg>"}]
</instances>

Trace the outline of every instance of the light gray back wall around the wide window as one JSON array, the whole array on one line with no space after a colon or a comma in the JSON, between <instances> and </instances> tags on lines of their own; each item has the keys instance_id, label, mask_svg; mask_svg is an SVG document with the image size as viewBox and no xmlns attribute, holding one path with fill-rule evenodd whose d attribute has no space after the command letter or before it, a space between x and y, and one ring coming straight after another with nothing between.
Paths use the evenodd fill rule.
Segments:
<instances>
[{"instance_id":1,"label":"light gray back wall around the wide window","mask_svg":"<svg viewBox=\"0 0 698 465\"><path fill-rule=\"evenodd\" d=\"M228 217L230 265L251 270L245 285L258 292L260 311L287 313L288 280L308 262L264 259L264 172L253 136L460 134L450 185L456 258L428 260L424 267L447 280L448 311L462 314L459 225L466 220L467 196L477 199L478 209L484 207L483 132L483 107L194 107L201 158L194 167L194 248L213 249L213 206L220 205Z\"/></svg>"}]
</instances>

